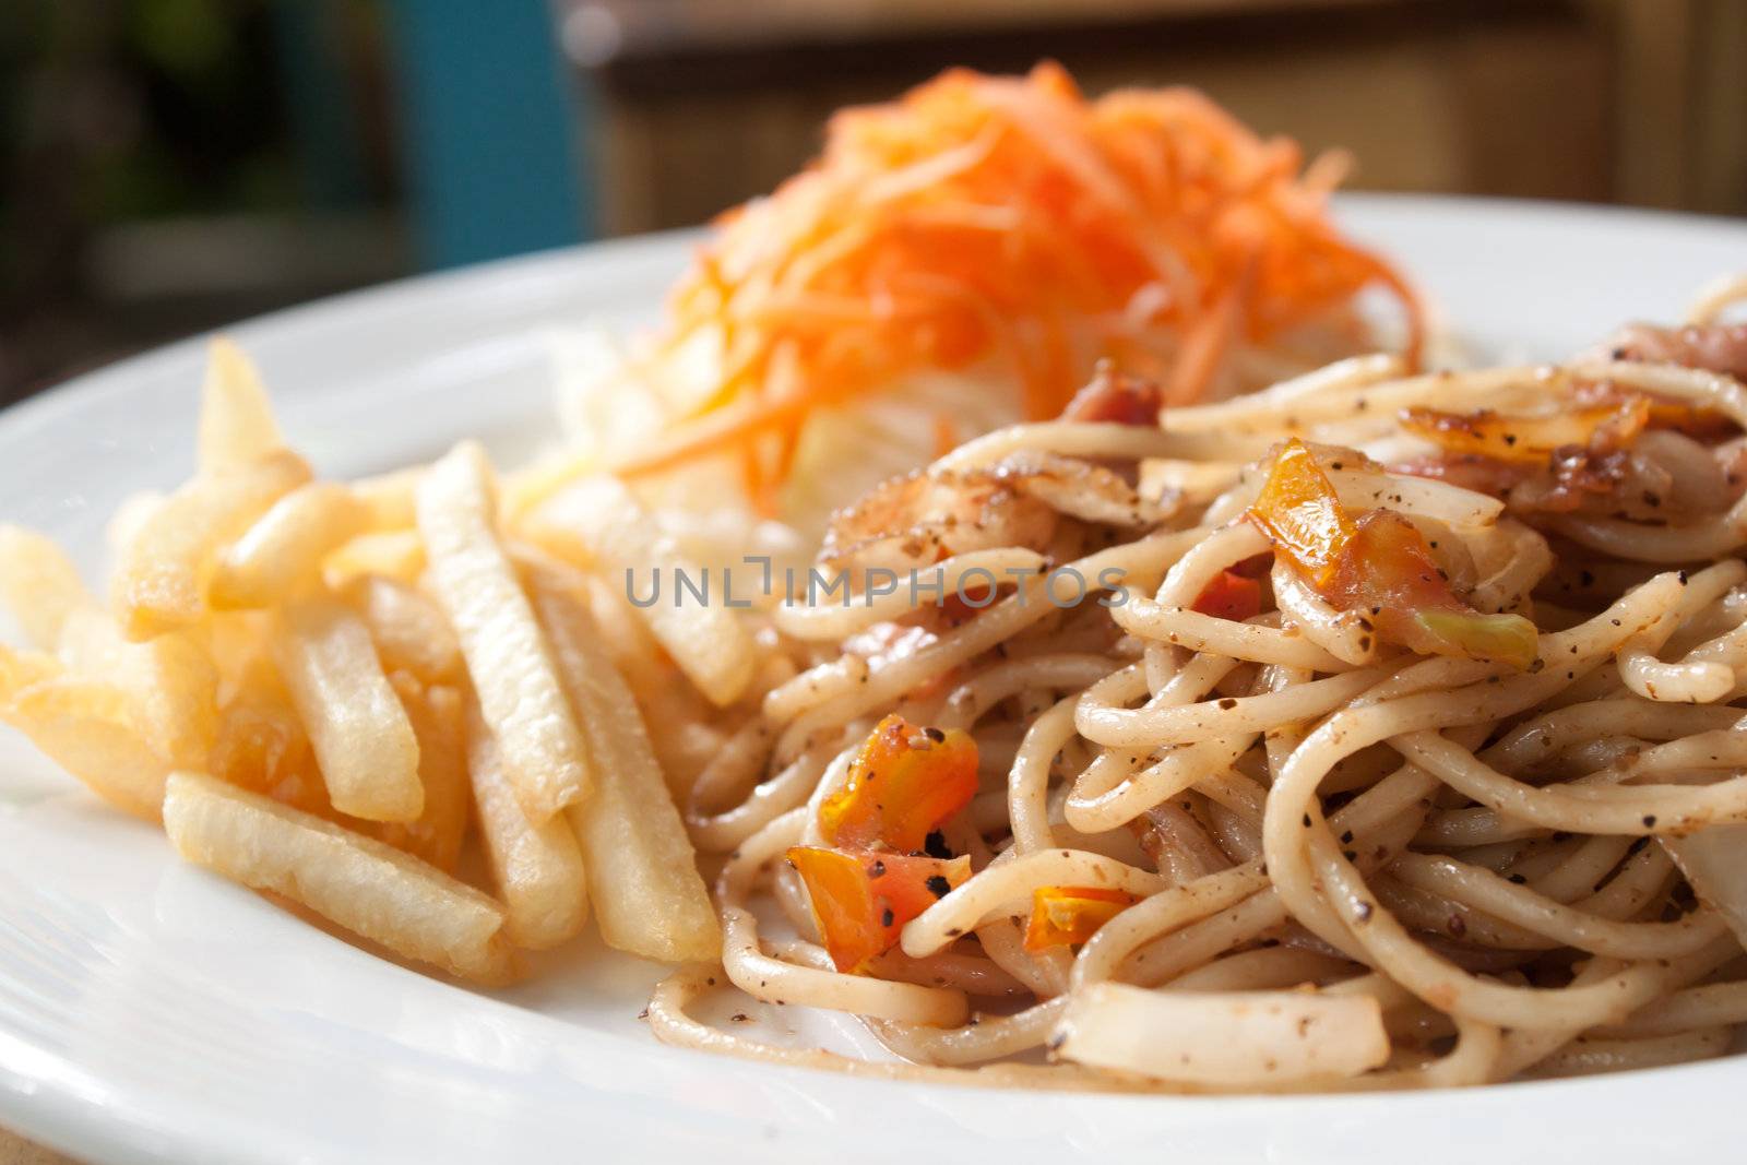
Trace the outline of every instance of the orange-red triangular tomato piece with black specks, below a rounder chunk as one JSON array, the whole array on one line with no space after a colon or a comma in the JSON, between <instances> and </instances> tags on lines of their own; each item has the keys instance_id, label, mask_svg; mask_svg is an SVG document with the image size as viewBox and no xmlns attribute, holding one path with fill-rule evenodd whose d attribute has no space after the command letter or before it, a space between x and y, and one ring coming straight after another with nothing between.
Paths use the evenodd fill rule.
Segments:
<instances>
[{"instance_id":1,"label":"orange-red triangular tomato piece with black specks, below a rounder chunk","mask_svg":"<svg viewBox=\"0 0 1747 1165\"><path fill-rule=\"evenodd\" d=\"M807 886L825 950L839 971L851 973L896 947L905 922L971 875L970 858L914 858L870 849L795 845L788 861Z\"/></svg>"}]
</instances>

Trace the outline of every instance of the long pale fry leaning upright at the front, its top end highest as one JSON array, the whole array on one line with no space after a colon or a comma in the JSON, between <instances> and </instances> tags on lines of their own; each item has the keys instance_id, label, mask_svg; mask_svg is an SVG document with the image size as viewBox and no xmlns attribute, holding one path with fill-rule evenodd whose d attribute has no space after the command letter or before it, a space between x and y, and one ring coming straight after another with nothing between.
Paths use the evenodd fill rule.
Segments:
<instances>
[{"instance_id":1,"label":"long pale fry leaning upright at the front, its top end highest","mask_svg":"<svg viewBox=\"0 0 1747 1165\"><path fill-rule=\"evenodd\" d=\"M461 641L505 772L535 824L589 796L582 732L552 653L496 534L491 466L463 442L419 482L430 585Z\"/></svg>"}]
</instances>

